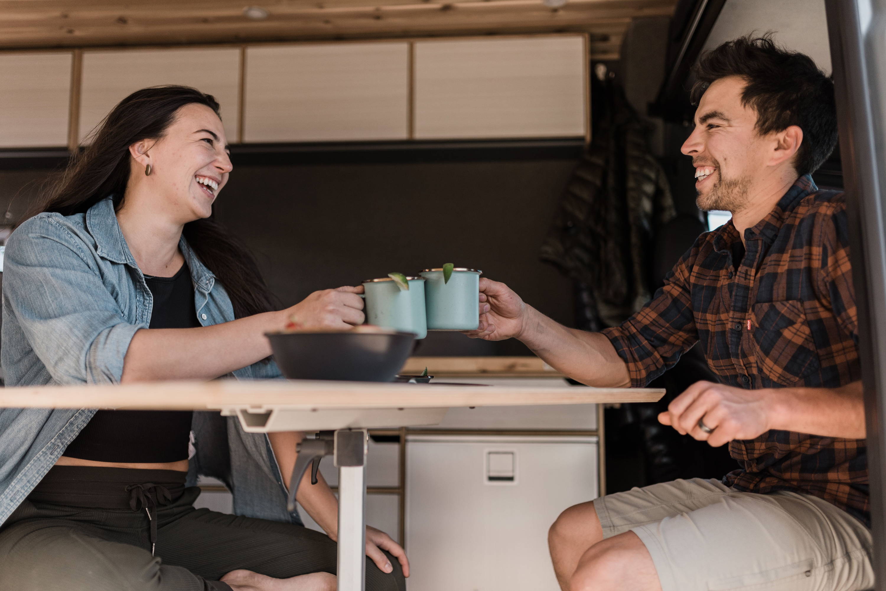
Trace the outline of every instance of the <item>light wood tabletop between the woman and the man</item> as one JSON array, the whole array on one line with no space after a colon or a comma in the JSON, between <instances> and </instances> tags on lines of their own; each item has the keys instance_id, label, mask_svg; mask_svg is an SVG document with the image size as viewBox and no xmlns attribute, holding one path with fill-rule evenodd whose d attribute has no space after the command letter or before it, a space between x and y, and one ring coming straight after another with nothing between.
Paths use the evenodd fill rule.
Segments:
<instances>
[{"instance_id":1,"label":"light wood tabletop between the woman and the man","mask_svg":"<svg viewBox=\"0 0 886 591\"><path fill-rule=\"evenodd\" d=\"M441 408L652 402L656 388L573 388L215 380L133 385L47 385L0 389L0 408L206 409Z\"/></svg>"}]
</instances>

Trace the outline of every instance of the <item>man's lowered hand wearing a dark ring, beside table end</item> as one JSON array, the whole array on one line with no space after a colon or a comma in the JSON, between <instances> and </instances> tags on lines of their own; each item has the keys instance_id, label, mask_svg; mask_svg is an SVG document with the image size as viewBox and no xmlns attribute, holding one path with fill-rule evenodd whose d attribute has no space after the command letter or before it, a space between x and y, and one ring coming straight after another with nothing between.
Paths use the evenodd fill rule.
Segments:
<instances>
[{"instance_id":1,"label":"man's lowered hand wearing a dark ring, beside table end","mask_svg":"<svg viewBox=\"0 0 886 591\"><path fill-rule=\"evenodd\" d=\"M696 382L658 415L658 421L719 447L733 439L754 439L772 429L772 400L772 390ZM713 432L703 432L700 419Z\"/></svg>"}]
</instances>

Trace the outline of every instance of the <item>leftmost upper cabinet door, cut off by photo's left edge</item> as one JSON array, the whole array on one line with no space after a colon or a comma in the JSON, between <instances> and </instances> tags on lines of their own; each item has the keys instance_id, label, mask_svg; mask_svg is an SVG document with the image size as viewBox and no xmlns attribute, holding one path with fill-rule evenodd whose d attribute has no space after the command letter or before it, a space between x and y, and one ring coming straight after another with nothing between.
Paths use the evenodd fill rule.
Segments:
<instances>
[{"instance_id":1,"label":"leftmost upper cabinet door, cut off by photo's left edge","mask_svg":"<svg viewBox=\"0 0 886 591\"><path fill-rule=\"evenodd\" d=\"M0 54L0 148L67 145L72 54Z\"/></svg>"}]
</instances>

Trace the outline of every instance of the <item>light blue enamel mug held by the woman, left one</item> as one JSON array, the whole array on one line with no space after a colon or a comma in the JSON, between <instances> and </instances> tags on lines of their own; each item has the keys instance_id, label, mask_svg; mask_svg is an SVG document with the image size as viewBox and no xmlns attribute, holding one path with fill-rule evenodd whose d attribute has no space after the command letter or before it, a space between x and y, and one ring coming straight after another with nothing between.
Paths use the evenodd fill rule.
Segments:
<instances>
[{"instance_id":1,"label":"light blue enamel mug held by the woman, left one","mask_svg":"<svg viewBox=\"0 0 886 591\"><path fill-rule=\"evenodd\" d=\"M366 323L427 337L424 283L424 277L407 277L409 289L401 290L391 277L364 281Z\"/></svg>"}]
</instances>

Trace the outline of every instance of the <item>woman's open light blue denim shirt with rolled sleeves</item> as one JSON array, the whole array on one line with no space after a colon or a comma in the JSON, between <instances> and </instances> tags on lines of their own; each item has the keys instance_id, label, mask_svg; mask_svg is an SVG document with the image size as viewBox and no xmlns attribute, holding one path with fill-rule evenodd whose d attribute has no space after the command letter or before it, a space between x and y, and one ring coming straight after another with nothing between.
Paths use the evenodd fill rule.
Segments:
<instances>
[{"instance_id":1,"label":"woman's open light blue denim shirt with rolled sleeves","mask_svg":"<svg viewBox=\"0 0 886 591\"><path fill-rule=\"evenodd\" d=\"M198 322L234 320L228 294L181 239ZM148 328L152 295L126 244L112 198L86 214L39 214L6 243L3 364L7 386L118 384L137 330ZM237 379L280 377L274 362L233 372ZM0 525L64 454L95 408L0 408ZM266 435L235 417L199 411L193 420L198 474L221 478L238 515L300 523L286 511L286 489Z\"/></svg>"}]
</instances>

